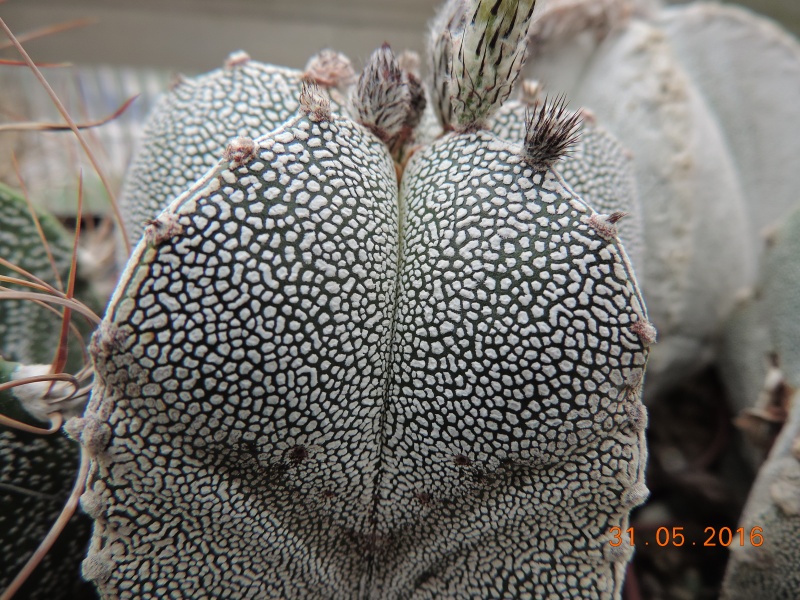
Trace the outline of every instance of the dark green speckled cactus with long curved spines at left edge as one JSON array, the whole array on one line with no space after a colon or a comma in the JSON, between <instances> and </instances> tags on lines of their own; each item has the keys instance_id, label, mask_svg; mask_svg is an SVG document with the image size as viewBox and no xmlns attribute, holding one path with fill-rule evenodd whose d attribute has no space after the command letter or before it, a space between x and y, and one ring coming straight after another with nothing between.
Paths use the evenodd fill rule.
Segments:
<instances>
[{"instance_id":1,"label":"dark green speckled cactus with long curved spines at left edge","mask_svg":"<svg viewBox=\"0 0 800 600\"><path fill-rule=\"evenodd\" d=\"M39 289L66 285L70 272L71 240L51 215L33 211L21 192L0 184L0 287L10 294L30 291L9 280L20 274L6 265L16 265L38 278ZM61 330L61 317L40 304L18 298L0 299L0 417L14 419L31 428L47 430L49 413L79 414L82 402L63 400L72 386L63 381L38 381L8 387L30 377L51 373ZM67 353L70 363L80 360L79 346L72 339ZM75 356L77 355L77 356ZM58 421L60 424L60 421ZM58 424L50 433L55 433ZM39 545L62 510L79 462L77 444L61 435L41 436L20 431L0 422L0 590ZM22 598L56 598L68 594L83 597L77 577L89 538L86 517L73 520L64 536L45 557L35 577L21 588ZM86 590L83 590L86 591ZM91 590L89 590L91 593Z\"/></svg>"}]
</instances>

